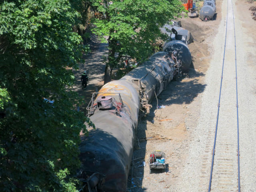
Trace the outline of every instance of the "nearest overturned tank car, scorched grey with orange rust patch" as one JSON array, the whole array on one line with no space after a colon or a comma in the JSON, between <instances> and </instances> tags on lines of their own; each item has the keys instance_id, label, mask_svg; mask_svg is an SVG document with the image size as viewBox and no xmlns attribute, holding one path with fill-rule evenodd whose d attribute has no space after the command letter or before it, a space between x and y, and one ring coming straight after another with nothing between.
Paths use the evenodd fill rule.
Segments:
<instances>
[{"instance_id":1,"label":"nearest overturned tank car, scorched grey with orange rust patch","mask_svg":"<svg viewBox=\"0 0 256 192\"><path fill-rule=\"evenodd\" d=\"M80 144L81 174L106 176L99 191L125 191L138 120L139 97L125 80L104 85L93 95L89 106L90 120L96 129L82 137Z\"/></svg>"}]
</instances>

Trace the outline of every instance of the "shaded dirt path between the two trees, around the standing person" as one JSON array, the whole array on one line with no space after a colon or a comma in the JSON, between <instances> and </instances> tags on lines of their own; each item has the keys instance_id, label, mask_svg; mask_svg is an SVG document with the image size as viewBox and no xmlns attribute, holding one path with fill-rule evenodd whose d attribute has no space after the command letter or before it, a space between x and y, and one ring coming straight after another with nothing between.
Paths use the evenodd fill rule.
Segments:
<instances>
[{"instance_id":1,"label":"shaded dirt path between the two trees, around the standing person","mask_svg":"<svg viewBox=\"0 0 256 192\"><path fill-rule=\"evenodd\" d=\"M79 70L74 71L76 78L74 91L84 97L86 104L80 106L80 110L85 111L85 108L92 97L92 93L100 90L104 83L104 70L105 64L102 63L103 56L108 53L108 48L106 43L101 43L95 36L90 42L91 52L87 55L83 55L85 63L79 64ZM86 70L89 82L87 84L86 90L82 90L81 75Z\"/></svg>"}]
</instances>

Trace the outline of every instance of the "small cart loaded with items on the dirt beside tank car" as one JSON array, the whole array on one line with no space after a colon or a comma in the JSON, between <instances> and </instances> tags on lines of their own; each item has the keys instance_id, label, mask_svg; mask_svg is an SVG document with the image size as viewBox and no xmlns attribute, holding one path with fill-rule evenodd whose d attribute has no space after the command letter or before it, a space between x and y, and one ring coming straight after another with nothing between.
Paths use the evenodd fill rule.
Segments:
<instances>
[{"instance_id":1,"label":"small cart loaded with items on the dirt beside tank car","mask_svg":"<svg viewBox=\"0 0 256 192\"><path fill-rule=\"evenodd\" d=\"M162 151L154 151L150 154L150 162L149 162L149 173L152 173L153 169L166 169L165 164L165 153Z\"/></svg>"}]
</instances>

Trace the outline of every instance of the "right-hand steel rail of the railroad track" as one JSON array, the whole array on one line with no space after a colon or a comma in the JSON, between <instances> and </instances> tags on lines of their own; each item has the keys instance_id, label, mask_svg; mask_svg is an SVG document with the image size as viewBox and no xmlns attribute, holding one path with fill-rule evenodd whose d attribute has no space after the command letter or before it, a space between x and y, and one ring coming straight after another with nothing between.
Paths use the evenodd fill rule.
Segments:
<instances>
[{"instance_id":1,"label":"right-hand steel rail of the railroad track","mask_svg":"<svg viewBox=\"0 0 256 192\"><path fill-rule=\"evenodd\" d=\"M232 14L233 14L233 23L234 23L234 40L235 40L235 62L236 62L236 28L235 28L235 18L234 18L234 9L233 1L232 4ZM238 153L238 192L240 192L240 150L239 150L239 121L238 121L238 88L237 88L237 67L236 67L236 115L237 115L237 153Z\"/></svg>"}]
</instances>

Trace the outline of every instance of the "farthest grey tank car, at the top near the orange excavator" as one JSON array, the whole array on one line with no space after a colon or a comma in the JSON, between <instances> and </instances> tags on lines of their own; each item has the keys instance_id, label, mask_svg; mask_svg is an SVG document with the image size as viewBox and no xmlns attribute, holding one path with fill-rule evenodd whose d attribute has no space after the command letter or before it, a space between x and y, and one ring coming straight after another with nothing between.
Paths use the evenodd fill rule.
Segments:
<instances>
[{"instance_id":1,"label":"farthest grey tank car, at the top near the orange excavator","mask_svg":"<svg viewBox=\"0 0 256 192\"><path fill-rule=\"evenodd\" d=\"M202 21L212 20L216 13L216 5L214 0L204 1L204 4L200 10L200 19Z\"/></svg>"}]
</instances>

